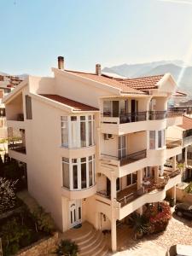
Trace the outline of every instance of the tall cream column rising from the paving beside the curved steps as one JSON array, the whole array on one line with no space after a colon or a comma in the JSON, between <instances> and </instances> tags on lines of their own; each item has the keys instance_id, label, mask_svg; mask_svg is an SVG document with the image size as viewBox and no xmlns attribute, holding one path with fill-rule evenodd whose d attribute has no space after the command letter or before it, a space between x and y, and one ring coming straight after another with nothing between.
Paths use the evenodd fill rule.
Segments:
<instances>
[{"instance_id":1,"label":"tall cream column rising from the paving beside the curved steps","mask_svg":"<svg viewBox=\"0 0 192 256\"><path fill-rule=\"evenodd\" d=\"M111 248L113 252L117 251L117 227L115 216L115 202L117 197L116 177L111 176Z\"/></svg>"}]
</instances>

